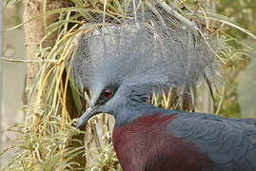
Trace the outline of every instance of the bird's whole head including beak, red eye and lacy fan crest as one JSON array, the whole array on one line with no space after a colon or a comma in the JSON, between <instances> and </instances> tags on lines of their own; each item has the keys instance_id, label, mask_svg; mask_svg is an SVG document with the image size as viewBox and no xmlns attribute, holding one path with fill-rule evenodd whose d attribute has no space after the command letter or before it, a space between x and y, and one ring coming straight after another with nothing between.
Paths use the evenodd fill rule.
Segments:
<instances>
[{"instance_id":1,"label":"bird's whole head including beak, red eye and lacy fan crest","mask_svg":"<svg viewBox=\"0 0 256 171\"><path fill-rule=\"evenodd\" d=\"M92 90L77 127L97 113L116 122L141 115L148 95L211 73L213 56L197 30L170 16L93 29L80 39L72 62L76 84Z\"/></svg>"}]
</instances>

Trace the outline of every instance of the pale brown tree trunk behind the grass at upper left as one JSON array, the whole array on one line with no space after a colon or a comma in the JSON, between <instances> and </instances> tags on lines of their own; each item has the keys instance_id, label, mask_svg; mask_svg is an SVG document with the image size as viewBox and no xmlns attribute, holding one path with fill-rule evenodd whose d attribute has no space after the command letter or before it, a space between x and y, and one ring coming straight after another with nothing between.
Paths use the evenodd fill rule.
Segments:
<instances>
[{"instance_id":1,"label":"pale brown tree trunk behind the grass at upper left","mask_svg":"<svg viewBox=\"0 0 256 171\"><path fill-rule=\"evenodd\" d=\"M55 22L58 19L58 14L48 15L44 21L44 17L38 19L33 19L35 16L39 16L43 13L43 1L41 0L24 0L24 21L27 22L24 25L25 36L26 36L26 50L27 50L27 59L36 60L39 58L38 49L41 44L42 39L46 35L46 26ZM65 0L47 0L46 2L46 11L56 10L60 8L65 8L68 6L67 1ZM49 37L42 42L42 47L52 47L55 43L55 38L57 37L57 32L53 32ZM27 87L26 94L29 97L30 90L34 84L36 75L39 71L38 63L28 64L27 69ZM45 72L47 73L47 72ZM31 100L33 113L40 113L40 110L44 108L45 97L44 90L47 89L48 83L45 82L43 85L43 93L38 94L38 89L35 89L34 99Z\"/></svg>"}]
</instances>

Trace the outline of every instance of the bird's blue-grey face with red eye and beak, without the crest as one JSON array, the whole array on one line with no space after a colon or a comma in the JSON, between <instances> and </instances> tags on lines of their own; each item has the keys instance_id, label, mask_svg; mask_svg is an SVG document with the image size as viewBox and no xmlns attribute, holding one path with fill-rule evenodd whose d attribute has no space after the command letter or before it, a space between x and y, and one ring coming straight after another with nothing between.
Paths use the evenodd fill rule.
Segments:
<instances>
[{"instance_id":1,"label":"bird's blue-grey face with red eye and beak, without the crest","mask_svg":"<svg viewBox=\"0 0 256 171\"><path fill-rule=\"evenodd\" d=\"M96 87L96 86L95 86ZM106 85L93 88L89 108L78 119L76 127L87 123L98 113L114 116L117 123L128 123L148 106L150 91L143 92L135 85Z\"/></svg>"}]
</instances>

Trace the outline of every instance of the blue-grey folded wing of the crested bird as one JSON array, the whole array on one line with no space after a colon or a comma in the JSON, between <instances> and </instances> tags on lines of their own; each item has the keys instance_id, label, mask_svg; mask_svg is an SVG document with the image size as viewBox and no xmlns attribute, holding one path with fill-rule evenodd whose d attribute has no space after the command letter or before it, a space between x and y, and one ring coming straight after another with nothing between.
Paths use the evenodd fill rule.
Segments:
<instances>
[{"instance_id":1,"label":"blue-grey folded wing of the crested bird","mask_svg":"<svg viewBox=\"0 0 256 171\"><path fill-rule=\"evenodd\" d=\"M214 171L256 171L256 125L202 114L179 116L168 125L175 137L196 144Z\"/></svg>"}]
</instances>

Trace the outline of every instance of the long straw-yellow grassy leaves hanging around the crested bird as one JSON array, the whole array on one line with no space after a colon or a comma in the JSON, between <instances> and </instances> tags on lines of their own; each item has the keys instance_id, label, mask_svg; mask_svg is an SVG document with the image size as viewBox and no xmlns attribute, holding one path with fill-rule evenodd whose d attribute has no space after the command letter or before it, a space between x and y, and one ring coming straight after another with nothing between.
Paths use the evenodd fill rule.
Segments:
<instances>
[{"instance_id":1,"label":"long straw-yellow grassy leaves hanging around the crested bird","mask_svg":"<svg viewBox=\"0 0 256 171\"><path fill-rule=\"evenodd\" d=\"M58 32L58 37L53 47L39 47L38 60L15 61L38 63L40 69L34 85L30 89L28 104L25 106L26 122L10 128L11 131L18 132L19 136L10 146L16 152L4 170L121 170L111 145L112 119L109 119L106 114L94 117L84 131L78 131L72 126L73 118L81 115L88 107L90 94L89 91L81 92L76 88L70 77L70 68L67 64L74 55L74 37L101 25L101 23L89 24L93 18L92 14L106 12L106 16L112 19L124 16L129 0L71 0L71 2L73 7L44 10L44 13L31 19L44 18L53 13L59 14L59 20L47 26L47 33L42 42L54 31ZM167 12L170 12L168 10L171 10L171 4L176 12L174 16L187 25L190 25L191 22L200 23L211 34L222 37L220 39L222 46L216 58L221 62L224 70L234 66L244 53L227 44L229 35L223 30L223 24L238 28L255 39L255 35L245 28L217 15L208 7L207 3L179 0L155 0L153 2L166 7ZM14 1L10 0L6 3L8 5ZM142 3L151 3L151 1L142 1ZM24 21L13 28L18 28L28 22ZM246 50L251 49L247 48ZM221 88L224 89L219 96L221 98L217 98L214 104L216 114L220 113L224 102L222 97L225 93L225 86L224 84ZM209 87L211 89L211 86ZM196 97L201 95L200 93L196 95L195 88L188 88L190 100L186 108L183 104L186 102L181 96L183 88L171 89L163 96L154 95L152 104L166 108L193 110L196 108ZM34 113L34 107L37 106L34 106L32 101L41 96L45 97L44 105L36 110L37 113ZM73 104L69 104L69 99ZM70 114L69 105L72 105L72 114ZM86 137L84 142L79 138L81 134ZM87 159L86 167L80 167L82 163L77 157L81 157L81 154L84 154Z\"/></svg>"}]
</instances>

